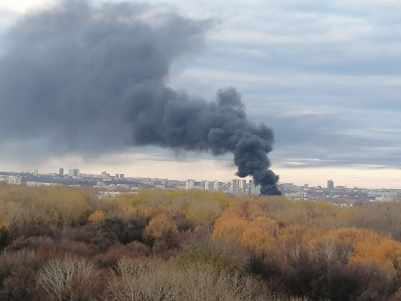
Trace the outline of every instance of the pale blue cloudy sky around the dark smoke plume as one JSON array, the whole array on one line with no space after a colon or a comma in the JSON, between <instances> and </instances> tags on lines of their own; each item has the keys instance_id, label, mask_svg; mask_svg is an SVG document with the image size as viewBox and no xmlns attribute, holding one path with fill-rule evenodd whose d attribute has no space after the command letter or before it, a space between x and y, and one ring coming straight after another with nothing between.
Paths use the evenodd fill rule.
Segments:
<instances>
[{"instance_id":1,"label":"pale blue cloudy sky around the dark smoke plume","mask_svg":"<svg viewBox=\"0 0 401 301\"><path fill-rule=\"evenodd\" d=\"M324 187L333 179L347 187L401 188L399 1L149 2L217 20L200 50L174 61L167 84L205 99L235 86L248 117L274 130L269 158L280 183ZM0 0L0 55L2 33L51 3ZM2 171L78 167L82 173L229 181L232 160L152 146L65 154L29 137L0 146Z\"/></svg>"}]
</instances>

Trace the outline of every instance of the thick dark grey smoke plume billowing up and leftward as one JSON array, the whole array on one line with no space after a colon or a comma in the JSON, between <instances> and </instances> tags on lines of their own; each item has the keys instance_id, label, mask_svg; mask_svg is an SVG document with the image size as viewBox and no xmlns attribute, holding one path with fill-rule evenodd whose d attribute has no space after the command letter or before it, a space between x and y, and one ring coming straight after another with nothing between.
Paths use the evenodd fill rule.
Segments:
<instances>
[{"instance_id":1,"label":"thick dark grey smoke plume billowing up and leftward","mask_svg":"<svg viewBox=\"0 0 401 301\"><path fill-rule=\"evenodd\" d=\"M250 122L235 88L207 102L166 86L171 64L203 43L212 20L122 2L65 1L26 15L0 55L0 143L49 137L71 151L155 145L234 154L237 175L280 194L273 131Z\"/></svg>"}]
</instances>

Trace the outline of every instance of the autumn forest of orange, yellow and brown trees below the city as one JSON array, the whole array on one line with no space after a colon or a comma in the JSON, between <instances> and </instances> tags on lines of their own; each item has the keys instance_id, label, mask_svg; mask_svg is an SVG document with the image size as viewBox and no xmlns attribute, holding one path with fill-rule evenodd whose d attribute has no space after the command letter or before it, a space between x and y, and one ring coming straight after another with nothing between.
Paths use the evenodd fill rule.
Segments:
<instances>
[{"instance_id":1,"label":"autumn forest of orange, yellow and brown trees below the city","mask_svg":"<svg viewBox=\"0 0 401 301\"><path fill-rule=\"evenodd\" d=\"M401 203L0 184L0 250L0 300L401 300Z\"/></svg>"}]
</instances>

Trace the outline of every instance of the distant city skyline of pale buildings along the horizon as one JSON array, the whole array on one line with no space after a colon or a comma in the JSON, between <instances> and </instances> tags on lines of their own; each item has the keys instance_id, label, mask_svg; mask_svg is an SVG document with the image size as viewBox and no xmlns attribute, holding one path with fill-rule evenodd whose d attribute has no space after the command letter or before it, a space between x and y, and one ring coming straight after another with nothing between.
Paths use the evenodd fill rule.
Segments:
<instances>
[{"instance_id":1,"label":"distant city skyline of pale buildings along the horizon","mask_svg":"<svg viewBox=\"0 0 401 301\"><path fill-rule=\"evenodd\" d=\"M232 179L229 182L220 181L178 181L158 178L125 177L124 174L110 175L102 171L99 175L80 173L78 168L60 168L58 173L39 173L38 169L30 172L0 172L0 181L10 185L26 186L91 186L99 189L99 198L113 197L123 193L136 193L139 189L201 189L209 191L222 191L231 195L259 195L260 187L254 181L245 179ZM309 187L293 183L278 185L283 195L292 199L328 199L340 207L352 206L355 203L369 201L401 201L401 189L367 189L358 187L334 186L332 179L327 180L326 187Z\"/></svg>"}]
</instances>

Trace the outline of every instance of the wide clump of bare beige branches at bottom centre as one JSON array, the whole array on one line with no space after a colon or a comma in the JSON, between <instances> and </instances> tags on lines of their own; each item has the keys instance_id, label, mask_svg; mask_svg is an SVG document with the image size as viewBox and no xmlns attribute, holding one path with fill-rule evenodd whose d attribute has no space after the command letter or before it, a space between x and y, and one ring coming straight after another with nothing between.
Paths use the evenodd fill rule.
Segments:
<instances>
[{"instance_id":1,"label":"wide clump of bare beige branches at bottom centre","mask_svg":"<svg viewBox=\"0 0 401 301\"><path fill-rule=\"evenodd\" d=\"M109 301L269 300L255 289L257 281L251 277L206 262L180 266L174 260L123 257L117 270L107 283Z\"/></svg>"}]
</instances>

